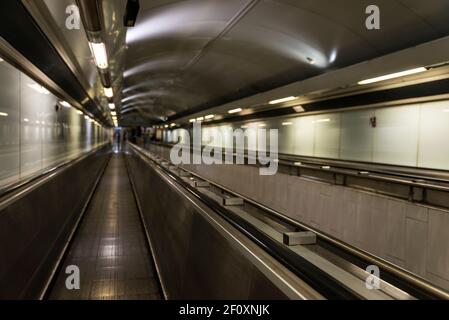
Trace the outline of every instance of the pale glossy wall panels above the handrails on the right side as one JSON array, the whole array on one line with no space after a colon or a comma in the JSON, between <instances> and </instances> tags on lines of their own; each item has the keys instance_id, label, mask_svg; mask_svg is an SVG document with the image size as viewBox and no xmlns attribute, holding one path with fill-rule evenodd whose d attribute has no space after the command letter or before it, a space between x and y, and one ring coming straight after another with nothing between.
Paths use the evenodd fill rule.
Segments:
<instances>
[{"instance_id":1,"label":"pale glossy wall panels above the handrails on the right side","mask_svg":"<svg viewBox=\"0 0 449 320\"><path fill-rule=\"evenodd\" d=\"M438 101L271 118L264 120L262 128L261 122L203 125L202 143L216 145L214 141L221 141L214 139L217 134L227 141L226 135L231 135L228 128L245 130L251 139L257 139L258 130L278 129L281 154L449 170L448 110L449 101ZM370 122L373 117L376 126ZM182 130L173 132L176 137ZM164 141L172 142L168 130L163 136Z\"/></svg>"}]
</instances>

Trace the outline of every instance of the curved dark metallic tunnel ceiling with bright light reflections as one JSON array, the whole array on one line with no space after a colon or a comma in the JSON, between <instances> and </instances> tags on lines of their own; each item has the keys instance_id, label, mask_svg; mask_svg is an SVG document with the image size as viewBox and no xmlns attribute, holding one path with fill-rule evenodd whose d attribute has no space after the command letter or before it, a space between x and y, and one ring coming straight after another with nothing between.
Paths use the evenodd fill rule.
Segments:
<instances>
[{"instance_id":1,"label":"curved dark metallic tunnel ceiling with bright light reflections","mask_svg":"<svg viewBox=\"0 0 449 320\"><path fill-rule=\"evenodd\" d=\"M449 34L447 0L378 0L378 31L365 27L370 4L140 1L126 39L124 122L174 119Z\"/></svg>"}]
</instances>

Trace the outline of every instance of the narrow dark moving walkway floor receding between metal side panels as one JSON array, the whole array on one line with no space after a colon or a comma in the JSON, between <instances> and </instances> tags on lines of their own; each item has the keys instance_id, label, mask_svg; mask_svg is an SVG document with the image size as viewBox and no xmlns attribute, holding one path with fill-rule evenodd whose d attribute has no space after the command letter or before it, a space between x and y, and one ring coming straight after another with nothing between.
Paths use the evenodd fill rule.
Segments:
<instances>
[{"instance_id":1,"label":"narrow dark moving walkway floor receding between metal side panels","mask_svg":"<svg viewBox=\"0 0 449 320\"><path fill-rule=\"evenodd\" d=\"M161 299L124 161L112 156L49 299ZM65 286L69 265L79 267L79 290Z\"/></svg>"}]
</instances>

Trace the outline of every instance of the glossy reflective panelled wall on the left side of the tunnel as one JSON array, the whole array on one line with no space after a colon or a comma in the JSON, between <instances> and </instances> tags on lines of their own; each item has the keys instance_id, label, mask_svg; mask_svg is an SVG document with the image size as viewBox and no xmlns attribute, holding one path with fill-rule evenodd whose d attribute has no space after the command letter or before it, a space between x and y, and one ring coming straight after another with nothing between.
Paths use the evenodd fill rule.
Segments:
<instances>
[{"instance_id":1,"label":"glossy reflective panelled wall on the left side of the tunnel","mask_svg":"<svg viewBox=\"0 0 449 320\"><path fill-rule=\"evenodd\" d=\"M0 64L0 187L77 157L109 138L6 62Z\"/></svg>"}]
</instances>

